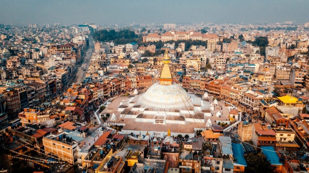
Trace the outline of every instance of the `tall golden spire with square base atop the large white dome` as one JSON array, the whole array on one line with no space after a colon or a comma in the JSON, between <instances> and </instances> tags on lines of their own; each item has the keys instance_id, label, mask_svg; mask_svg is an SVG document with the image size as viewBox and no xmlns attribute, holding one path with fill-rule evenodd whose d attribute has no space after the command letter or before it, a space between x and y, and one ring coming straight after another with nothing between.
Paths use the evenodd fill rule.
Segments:
<instances>
[{"instance_id":1,"label":"tall golden spire with square base atop the large white dome","mask_svg":"<svg viewBox=\"0 0 309 173\"><path fill-rule=\"evenodd\" d=\"M160 84L161 85L171 85L172 84L172 75L170 67L168 63L171 61L171 57L168 55L167 50L165 50L164 57L163 57L163 68L160 76Z\"/></svg>"}]
</instances>

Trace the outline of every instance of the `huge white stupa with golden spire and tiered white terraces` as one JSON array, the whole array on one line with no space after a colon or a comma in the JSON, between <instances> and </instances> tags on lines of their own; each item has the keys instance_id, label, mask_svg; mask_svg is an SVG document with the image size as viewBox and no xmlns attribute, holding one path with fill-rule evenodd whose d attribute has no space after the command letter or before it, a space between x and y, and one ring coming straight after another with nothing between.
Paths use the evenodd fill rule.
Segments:
<instances>
[{"instance_id":1,"label":"huge white stupa with golden spire and tiered white terraces","mask_svg":"<svg viewBox=\"0 0 309 173\"><path fill-rule=\"evenodd\" d=\"M123 125L122 132L141 132L150 137L164 137L163 131L194 137L197 129L204 129L205 117L211 116L209 98L186 92L173 82L168 52L163 57L163 67L159 82L154 83L144 93L129 95L118 107Z\"/></svg>"}]
</instances>

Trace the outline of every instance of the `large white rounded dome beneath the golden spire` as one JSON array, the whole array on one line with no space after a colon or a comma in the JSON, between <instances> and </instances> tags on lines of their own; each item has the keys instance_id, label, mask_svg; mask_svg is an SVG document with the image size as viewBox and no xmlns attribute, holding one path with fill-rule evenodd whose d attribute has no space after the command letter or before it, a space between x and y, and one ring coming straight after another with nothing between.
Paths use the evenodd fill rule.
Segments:
<instances>
[{"instance_id":1,"label":"large white rounded dome beneath the golden spire","mask_svg":"<svg viewBox=\"0 0 309 173\"><path fill-rule=\"evenodd\" d=\"M150 86L142 95L140 100L144 104L157 107L189 107L190 97L187 92L178 84L162 85L160 82Z\"/></svg>"}]
</instances>

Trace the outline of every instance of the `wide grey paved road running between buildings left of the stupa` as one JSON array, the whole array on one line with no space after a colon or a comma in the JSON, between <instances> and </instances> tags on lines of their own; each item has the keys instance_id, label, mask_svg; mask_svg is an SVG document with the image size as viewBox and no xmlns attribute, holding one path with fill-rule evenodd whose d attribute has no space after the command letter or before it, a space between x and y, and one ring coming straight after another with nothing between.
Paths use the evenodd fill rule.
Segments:
<instances>
[{"instance_id":1,"label":"wide grey paved road running between buildings left of the stupa","mask_svg":"<svg viewBox=\"0 0 309 173\"><path fill-rule=\"evenodd\" d=\"M78 67L78 71L75 75L75 78L72 80L72 82L74 83L83 82L83 79L85 78L86 70L88 69L89 64L90 64L92 52L94 51L94 48L92 47L94 47L94 41L92 40L91 36L89 36L89 48L86 51L86 54L84 57L84 63L82 64L82 66L85 68L85 71L81 67ZM86 60L87 58L88 60Z\"/></svg>"}]
</instances>

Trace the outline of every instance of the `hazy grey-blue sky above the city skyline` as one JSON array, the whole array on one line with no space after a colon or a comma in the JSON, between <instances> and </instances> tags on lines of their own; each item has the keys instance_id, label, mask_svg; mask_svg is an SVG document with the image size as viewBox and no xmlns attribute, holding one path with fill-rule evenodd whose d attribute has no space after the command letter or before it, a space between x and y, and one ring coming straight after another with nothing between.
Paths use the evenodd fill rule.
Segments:
<instances>
[{"instance_id":1,"label":"hazy grey-blue sky above the city skyline","mask_svg":"<svg viewBox=\"0 0 309 173\"><path fill-rule=\"evenodd\" d=\"M309 0L0 0L0 23L309 22Z\"/></svg>"}]
</instances>

